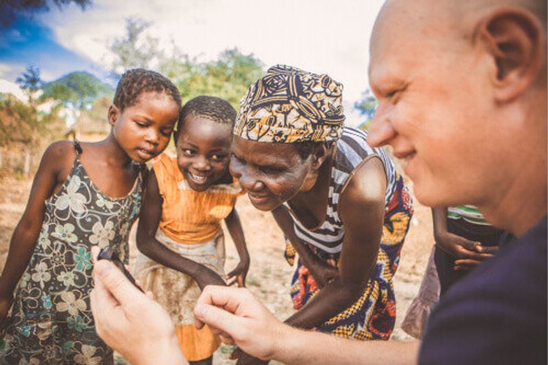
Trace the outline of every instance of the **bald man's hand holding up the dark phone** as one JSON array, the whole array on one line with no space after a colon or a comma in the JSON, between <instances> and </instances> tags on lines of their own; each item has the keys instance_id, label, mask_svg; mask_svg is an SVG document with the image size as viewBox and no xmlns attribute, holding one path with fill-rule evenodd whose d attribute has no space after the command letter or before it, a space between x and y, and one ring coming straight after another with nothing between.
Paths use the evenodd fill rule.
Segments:
<instances>
[{"instance_id":1,"label":"bald man's hand holding up the dark phone","mask_svg":"<svg viewBox=\"0 0 548 365\"><path fill-rule=\"evenodd\" d=\"M98 247L92 248L97 257ZM91 310L97 334L132 364L186 364L164 309L107 260L95 262ZM158 357L161 357L159 360Z\"/></svg>"}]
</instances>

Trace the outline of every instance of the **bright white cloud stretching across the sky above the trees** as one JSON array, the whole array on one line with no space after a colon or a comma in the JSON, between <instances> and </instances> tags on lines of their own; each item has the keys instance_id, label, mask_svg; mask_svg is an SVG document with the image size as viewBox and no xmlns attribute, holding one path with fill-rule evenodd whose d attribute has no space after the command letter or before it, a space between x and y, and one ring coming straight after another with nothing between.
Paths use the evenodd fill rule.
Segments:
<instances>
[{"instance_id":1,"label":"bright white cloud stretching across the sky above the trees","mask_svg":"<svg viewBox=\"0 0 548 365\"><path fill-rule=\"evenodd\" d=\"M292 64L329 73L353 103L367 85L369 36L382 0L95 0L85 12L71 6L41 17L67 49L105 64L107 43L125 34L125 18L153 22L149 34L169 49L215 58L238 47L267 66Z\"/></svg>"}]
</instances>

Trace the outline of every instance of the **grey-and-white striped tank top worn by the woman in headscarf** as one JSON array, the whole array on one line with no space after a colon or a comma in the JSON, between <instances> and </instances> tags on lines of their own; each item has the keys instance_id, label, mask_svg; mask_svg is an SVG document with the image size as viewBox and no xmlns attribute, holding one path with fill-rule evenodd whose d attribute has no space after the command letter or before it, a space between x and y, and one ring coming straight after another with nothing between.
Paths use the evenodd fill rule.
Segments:
<instances>
[{"instance_id":1,"label":"grey-and-white striped tank top worn by the woman in headscarf","mask_svg":"<svg viewBox=\"0 0 548 365\"><path fill-rule=\"evenodd\" d=\"M329 180L329 197L327 199L325 221L315 229L308 229L299 222L295 215L291 215L297 237L327 253L340 253L343 249L345 229L337 212L338 199L356 168L372 156L377 156L382 160L386 173L385 204L388 204L396 189L397 178L394 163L384 149L370 147L366 142L366 138L366 132L352 127L345 127L343 136L336 142L337 150L331 170L331 179Z\"/></svg>"}]
</instances>

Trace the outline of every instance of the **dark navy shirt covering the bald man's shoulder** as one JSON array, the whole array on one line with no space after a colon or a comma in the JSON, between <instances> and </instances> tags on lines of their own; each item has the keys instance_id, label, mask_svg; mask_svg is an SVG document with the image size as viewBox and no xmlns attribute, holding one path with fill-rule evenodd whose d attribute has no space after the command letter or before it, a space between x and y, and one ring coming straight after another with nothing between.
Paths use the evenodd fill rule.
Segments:
<instances>
[{"instance_id":1,"label":"dark navy shirt covering the bald man's shoulder","mask_svg":"<svg viewBox=\"0 0 548 365\"><path fill-rule=\"evenodd\" d=\"M421 364L546 363L546 218L453 286L432 312Z\"/></svg>"}]
</instances>

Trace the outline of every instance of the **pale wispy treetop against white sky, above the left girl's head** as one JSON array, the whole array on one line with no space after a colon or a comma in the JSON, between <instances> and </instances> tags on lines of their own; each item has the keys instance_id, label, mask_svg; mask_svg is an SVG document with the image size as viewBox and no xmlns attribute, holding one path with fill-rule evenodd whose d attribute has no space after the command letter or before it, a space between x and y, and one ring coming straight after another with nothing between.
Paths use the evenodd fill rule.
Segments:
<instances>
[{"instance_id":1,"label":"pale wispy treetop against white sky, above the left girl's head","mask_svg":"<svg viewBox=\"0 0 548 365\"><path fill-rule=\"evenodd\" d=\"M109 49L114 54L111 73L119 79L122 73L129 68L150 68L154 59L162 57L158 50L158 38L144 36L145 30L151 26L139 18L125 20L126 34L123 38L116 38Z\"/></svg>"}]
</instances>

